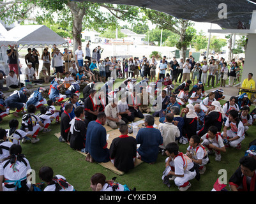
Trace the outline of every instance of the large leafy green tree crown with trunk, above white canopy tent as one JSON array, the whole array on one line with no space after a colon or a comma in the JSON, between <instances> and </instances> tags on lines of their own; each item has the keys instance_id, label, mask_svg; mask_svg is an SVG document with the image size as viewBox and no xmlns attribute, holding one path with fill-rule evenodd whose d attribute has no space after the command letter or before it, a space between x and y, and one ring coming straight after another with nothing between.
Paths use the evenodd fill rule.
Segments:
<instances>
[{"instance_id":1,"label":"large leafy green tree crown with trunk, above white canopy tent","mask_svg":"<svg viewBox=\"0 0 256 204\"><path fill-rule=\"evenodd\" d=\"M37 14L38 22L46 22L49 15L57 15L52 18L61 27L72 26L74 47L81 43L83 29L100 31L110 26L118 25L119 20L133 22L139 20L139 7L118 4L100 4L87 1L78 2L71 0L24 0L0 2L0 18L9 23L30 17L31 11L40 8ZM103 8L103 9L100 9ZM48 18L47 18L48 17ZM47 19L46 19L47 18Z\"/></svg>"}]
</instances>

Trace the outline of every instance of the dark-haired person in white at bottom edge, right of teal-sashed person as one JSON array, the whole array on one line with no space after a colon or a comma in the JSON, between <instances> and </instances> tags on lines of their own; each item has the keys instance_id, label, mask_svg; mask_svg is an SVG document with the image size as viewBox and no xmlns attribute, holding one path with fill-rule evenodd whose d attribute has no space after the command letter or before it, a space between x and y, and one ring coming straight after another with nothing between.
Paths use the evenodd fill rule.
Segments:
<instances>
[{"instance_id":1,"label":"dark-haired person in white at bottom edge, right of teal-sashed person","mask_svg":"<svg viewBox=\"0 0 256 204\"><path fill-rule=\"evenodd\" d=\"M74 187L66 181L65 177L62 175L54 177L54 171L49 166L41 167L38 175L41 180L47 183L47 187L43 191L75 191Z\"/></svg>"}]
</instances>

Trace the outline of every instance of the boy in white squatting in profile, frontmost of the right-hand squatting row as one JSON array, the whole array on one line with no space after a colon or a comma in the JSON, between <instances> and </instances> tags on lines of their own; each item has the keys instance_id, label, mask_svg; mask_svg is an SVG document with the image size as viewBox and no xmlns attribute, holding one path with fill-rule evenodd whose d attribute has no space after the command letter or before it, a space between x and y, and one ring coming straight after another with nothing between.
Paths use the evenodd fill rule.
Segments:
<instances>
[{"instance_id":1,"label":"boy in white squatting in profile, frontmost of the right-hand squatting row","mask_svg":"<svg viewBox=\"0 0 256 204\"><path fill-rule=\"evenodd\" d=\"M166 146L165 153L167 159L165 159L165 171L163 171L162 180L164 184L169 184L169 178L174 180L175 185L179 188L179 191L188 190L192 184L189 180L196 178L200 180L199 165L193 163L183 152L179 152L179 146L177 143L172 142Z\"/></svg>"}]
</instances>

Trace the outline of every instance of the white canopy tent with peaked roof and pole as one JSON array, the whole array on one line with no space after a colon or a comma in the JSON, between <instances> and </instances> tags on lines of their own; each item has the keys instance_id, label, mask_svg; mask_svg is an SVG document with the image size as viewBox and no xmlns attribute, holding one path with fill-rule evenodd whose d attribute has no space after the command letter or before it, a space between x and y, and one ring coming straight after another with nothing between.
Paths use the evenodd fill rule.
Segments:
<instances>
[{"instance_id":1,"label":"white canopy tent with peaked roof and pole","mask_svg":"<svg viewBox=\"0 0 256 204\"><path fill-rule=\"evenodd\" d=\"M57 33L49 29L45 25L17 25L6 33L6 36L0 38L0 47L14 46L16 50L20 45L64 45L68 44ZM19 54L17 56L17 64L19 64ZM20 75L19 75L20 80Z\"/></svg>"}]
</instances>

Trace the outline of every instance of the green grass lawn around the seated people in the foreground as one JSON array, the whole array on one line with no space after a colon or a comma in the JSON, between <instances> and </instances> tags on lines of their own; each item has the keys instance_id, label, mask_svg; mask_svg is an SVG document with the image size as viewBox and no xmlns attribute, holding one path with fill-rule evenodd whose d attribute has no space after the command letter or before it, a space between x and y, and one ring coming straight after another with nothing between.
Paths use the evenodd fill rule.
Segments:
<instances>
[{"instance_id":1,"label":"green grass lawn around the seated people in the foreground","mask_svg":"<svg viewBox=\"0 0 256 204\"><path fill-rule=\"evenodd\" d=\"M123 80L117 79L117 83ZM176 84L177 87L178 84ZM207 88L206 88L207 90ZM82 94L81 94L82 97ZM225 101L220 101L222 105ZM251 110L254 106L251 107ZM58 107L59 109L59 107ZM13 115L4 117L1 123L1 128L8 129L9 120L13 119ZM21 116L19 117L21 121ZM60 132L60 125L51 124L49 133L39 133L38 143L22 143L22 152L26 155L31 168L36 171L36 182L42 182L38 177L38 171L41 166L50 166L54 170L54 174L60 174L66 177L68 182L72 184L77 191L91 191L90 178L94 173L103 173L107 179L117 177L117 182L126 184L128 187L136 187L137 191L178 191L174 182L171 182L171 187L168 188L162 183L162 173L165 170L165 159L167 156L158 155L156 164L142 163L128 173L118 176L110 170L107 170L97 163L88 163L86 158L75 150L72 150L66 143L58 141L54 133ZM200 181L192 180L192 187L188 191L211 191L216 179L220 177L219 170L227 171L227 180L239 166L239 159L244 156L248 144L255 139L255 124L248 130L248 136L242 142L241 150L229 148L227 152L222 153L222 161L215 161L215 156L210 155L210 164L206 165L206 172L201 175ZM186 152L186 145L179 143L179 150Z\"/></svg>"}]
</instances>

